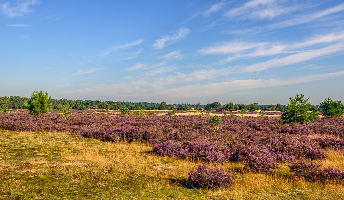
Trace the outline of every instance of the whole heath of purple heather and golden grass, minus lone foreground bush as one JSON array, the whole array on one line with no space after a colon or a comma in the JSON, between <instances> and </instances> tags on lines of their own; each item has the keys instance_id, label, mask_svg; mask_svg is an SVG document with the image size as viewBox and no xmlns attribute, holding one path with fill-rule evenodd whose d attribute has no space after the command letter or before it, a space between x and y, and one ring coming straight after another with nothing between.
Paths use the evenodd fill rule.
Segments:
<instances>
[{"instance_id":1,"label":"whole heath of purple heather and golden grass, minus lone foreground bush","mask_svg":"<svg viewBox=\"0 0 344 200\"><path fill-rule=\"evenodd\" d=\"M199 112L74 112L0 113L1 198L344 199L344 117L237 114L215 126ZM233 185L190 184L200 163L229 171Z\"/></svg>"}]
</instances>

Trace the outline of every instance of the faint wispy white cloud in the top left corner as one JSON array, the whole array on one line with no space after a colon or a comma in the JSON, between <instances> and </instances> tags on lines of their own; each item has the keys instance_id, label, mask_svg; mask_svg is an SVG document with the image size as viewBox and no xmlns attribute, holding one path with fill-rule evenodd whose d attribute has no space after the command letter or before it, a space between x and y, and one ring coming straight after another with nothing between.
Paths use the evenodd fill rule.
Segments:
<instances>
[{"instance_id":1,"label":"faint wispy white cloud in the top left corner","mask_svg":"<svg viewBox=\"0 0 344 200\"><path fill-rule=\"evenodd\" d=\"M0 12L11 18L15 16L24 16L32 12L30 7L37 3L39 3L38 0L17 0L13 5L10 4L10 2L0 3Z\"/></svg>"}]
</instances>

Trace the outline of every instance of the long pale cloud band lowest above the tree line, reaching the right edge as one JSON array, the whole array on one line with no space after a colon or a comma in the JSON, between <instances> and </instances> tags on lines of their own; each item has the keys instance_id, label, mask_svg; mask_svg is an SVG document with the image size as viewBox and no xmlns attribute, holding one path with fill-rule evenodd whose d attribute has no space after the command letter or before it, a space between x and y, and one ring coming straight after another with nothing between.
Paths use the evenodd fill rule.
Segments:
<instances>
[{"instance_id":1,"label":"long pale cloud band lowest above the tree line, reaching the right edge","mask_svg":"<svg viewBox=\"0 0 344 200\"><path fill-rule=\"evenodd\" d=\"M166 89L160 82L135 80L131 82L122 82L119 84L107 84L98 87L85 87L78 90L71 90L66 93L75 95L75 97L83 96L84 98L92 98L94 96L102 96L108 99L112 98L137 98L143 100L169 99L170 101L183 100L188 101L204 96L222 95L228 92L255 88L268 88L275 86L284 86L292 84L302 84L317 80L326 80L337 77L343 77L344 71L336 71L334 73L315 74L299 76L291 79L246 79L233 80L212 84L196 84L186 85L182 87L174 87ZM108 92L111 91L111 92Z\"/></svg>"}]
</instances>

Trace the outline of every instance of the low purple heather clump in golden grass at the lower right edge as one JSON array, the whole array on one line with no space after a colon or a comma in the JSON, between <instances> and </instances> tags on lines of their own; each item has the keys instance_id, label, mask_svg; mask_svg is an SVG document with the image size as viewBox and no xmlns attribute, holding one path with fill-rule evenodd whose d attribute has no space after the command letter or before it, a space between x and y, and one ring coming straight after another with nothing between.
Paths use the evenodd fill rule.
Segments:
<instances>
[{"instance_id":1,"label":"low purple heather clump in golden grass at the lower right edge","mask_svg":"<svg viewBox=\"0 0 344 200\"><path fill-rule=\"evenodd\" d=\"M304 177L314 182L323 182L327 178L336 178L344 181L344 171L330 167L321 168L323 165L317 161L311 160L297 160L293 164L289 165L290 171L295 175Z\"/></svg>"}]
</instances>

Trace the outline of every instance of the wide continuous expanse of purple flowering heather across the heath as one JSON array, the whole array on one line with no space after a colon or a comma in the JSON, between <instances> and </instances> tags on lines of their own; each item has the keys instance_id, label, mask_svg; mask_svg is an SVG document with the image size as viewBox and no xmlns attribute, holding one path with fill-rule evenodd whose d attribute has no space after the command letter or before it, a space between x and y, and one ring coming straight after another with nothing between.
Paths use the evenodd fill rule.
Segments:
<instances>
[{"instance_id":1,"label":"wide continuous expanse of purple flowering heather across the heath","mask_svg":"<svg viewBox=\"0 0 344 200\"><path fill-rule=\"evenodd\" d=\"M66 132L109 141L146 140L161 156L200 159L218 164L240 160L260 171L268 171L278 167L279 162L293 162L299 158L323 159L327 156L324 149L343 148L342 139L330 137L344 136L343 117L317 118L304 124L284 124L277 122L277 119L280 118L225 117L221 119L221 129L214 130L209 124L211 116L76 113L65 119L54 111L39 117L10 112L0 113L0 128ZM310 137L314 134L321 137Z\"/></svg>"}]
</instances>

